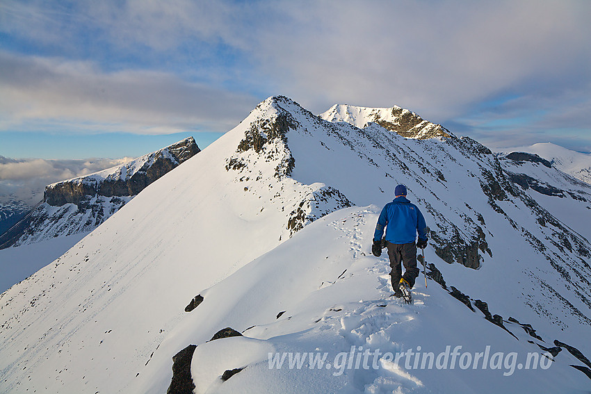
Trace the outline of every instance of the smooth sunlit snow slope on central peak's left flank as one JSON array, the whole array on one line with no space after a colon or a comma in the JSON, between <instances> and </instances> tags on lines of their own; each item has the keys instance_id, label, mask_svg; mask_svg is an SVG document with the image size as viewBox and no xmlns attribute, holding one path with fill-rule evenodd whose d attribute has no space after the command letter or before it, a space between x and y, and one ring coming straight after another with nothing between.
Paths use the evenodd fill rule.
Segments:
<instances>
[{"instance_id":1,"label":"smooth sunlit snow slope on central peak's left flank","mask_svg":"<svg viewBox=\"0 0 591 394\"><path fill-rule=\"evenodd\" d=\"M264 156L243 152L255 163L239 177L227 170L251 122L272 119L272 111L270 103L253 111L0 295L3 391L124 391L195 292L289 238L306 220L298 208L313 217L350 204L321 184L282 176L289 151L280 139Z\"/></svg>"}]
</instances>

